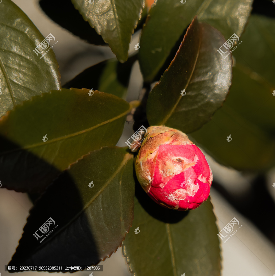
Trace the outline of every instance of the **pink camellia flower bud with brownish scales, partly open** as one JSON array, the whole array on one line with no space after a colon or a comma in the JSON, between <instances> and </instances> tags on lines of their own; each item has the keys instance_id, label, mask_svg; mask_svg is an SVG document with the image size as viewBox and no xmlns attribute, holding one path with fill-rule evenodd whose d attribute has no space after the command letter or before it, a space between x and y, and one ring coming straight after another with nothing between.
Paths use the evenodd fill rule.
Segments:
<instances>
[{"instance_id":1,"label":"pink camellia flower bud with brownish scales, partly open","mask_svg":"<svg viewBox=\"0 0 275 276\"><path fill-rule=\"evenodd\" d=\"M164 207L196 209L207 200L213 179L205 156L177 129L152 126L147 132L135 160L142 188Z\"/></svg>"}]
</instances>

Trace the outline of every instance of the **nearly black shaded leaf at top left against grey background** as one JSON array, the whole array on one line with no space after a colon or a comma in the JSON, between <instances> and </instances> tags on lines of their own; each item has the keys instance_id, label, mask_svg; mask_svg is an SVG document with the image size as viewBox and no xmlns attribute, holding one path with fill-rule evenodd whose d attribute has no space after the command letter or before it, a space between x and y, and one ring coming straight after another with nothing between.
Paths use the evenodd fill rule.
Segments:
<instances>
[{"instance_id":1,"label":"nearly black shaded leaf at top left against grey background","mask_svg":"<svg viewBox=\"0 0 275 276\"><path fill-rule=\"evenodd\" d=\"M62 28L67 29L81 39L87 40L91 44L106 45L95 29L91 28L87 21L83 20L83 17L75 9L72 2L68 0L40 0L39 5L47 16ZM64 10L64 7L66 7L66 10Z\"/></svg>"}]
</instances>

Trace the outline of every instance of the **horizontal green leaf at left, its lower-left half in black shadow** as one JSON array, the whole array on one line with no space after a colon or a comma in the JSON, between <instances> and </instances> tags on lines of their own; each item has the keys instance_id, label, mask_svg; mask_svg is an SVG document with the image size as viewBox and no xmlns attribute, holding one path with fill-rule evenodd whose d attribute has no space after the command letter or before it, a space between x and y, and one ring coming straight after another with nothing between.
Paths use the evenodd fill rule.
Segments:
<instances>
[{"instance_id":1,"label":"horizontal green leaf at left, its lower-left half in black shadow","mask_svg":"<svg viewBox=\"0 0 275 276\"><path fill-rule=\"evenodd\" d=\"M42 191L82 155L118 142L129 104L114 95L93 91L90 97L88 92L74 88L51 91L2 117L3 187Z\"/></svg>"}]
</instances>

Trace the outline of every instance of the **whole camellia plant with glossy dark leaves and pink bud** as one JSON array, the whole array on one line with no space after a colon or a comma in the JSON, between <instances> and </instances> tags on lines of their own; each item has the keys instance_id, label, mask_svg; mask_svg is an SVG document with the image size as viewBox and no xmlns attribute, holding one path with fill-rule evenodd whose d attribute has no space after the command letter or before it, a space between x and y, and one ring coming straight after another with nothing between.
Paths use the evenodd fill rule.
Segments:
<instances>
[{"instance_id":1,"label":"whole camellia plant with glossy dark leaves and pink bud","mask_svg":"<svg viewBox=\"0 0 275 276\"><path fill-rule=\"evenodd\" d=\"M275 47L275 20L250 15L252 0L49 2L52 20L116 58L61 87L57 38L2 1L0 180L34 203L8 265L74 272L65 265L83 270L122 246L135 276L220 275L201 150L237 170L274 165L274 60L258 53ZM143 89L127 102L135 63Z\"/></svg>"}]
</instances>

